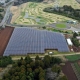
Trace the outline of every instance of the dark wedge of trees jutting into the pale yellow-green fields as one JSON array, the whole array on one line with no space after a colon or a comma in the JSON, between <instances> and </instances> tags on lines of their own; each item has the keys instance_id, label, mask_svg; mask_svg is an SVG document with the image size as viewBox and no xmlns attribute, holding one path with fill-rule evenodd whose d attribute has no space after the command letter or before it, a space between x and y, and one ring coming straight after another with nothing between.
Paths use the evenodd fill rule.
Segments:
<instances>
[{"instance_id":1,"label":"dark wedge of trees jutting into the pale yellow-green fields","mask_svg":"<svg viewBox=\"0 0 80 80\"><path fill-rule=\"evenodd\" d=\"M80 21L80 18L79 18L80 9L74 9L68 5L64 5L63 7L55 7L55 8L48 7L48 8L45 8L43 11L63 15L63 16L70 17Z\"/></svg>"}]
</instances>

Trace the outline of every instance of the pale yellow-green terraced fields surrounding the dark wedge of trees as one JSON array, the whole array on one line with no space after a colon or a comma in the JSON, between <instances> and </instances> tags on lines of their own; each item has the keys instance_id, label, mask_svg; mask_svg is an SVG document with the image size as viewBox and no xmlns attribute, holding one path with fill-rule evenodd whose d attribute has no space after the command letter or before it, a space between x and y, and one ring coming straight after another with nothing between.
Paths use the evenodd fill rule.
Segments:
<instances>
[{"instance_id":1,"label":"pale yellow-green terraced fields surrounding the dark wedge of trees","mask_svg":"<svg viewBox=\"0 0 80 80\"><path fill-rule=\"evenodd\" d=\"M80 4L76 2L76 0L59 0L59 6L63 5L71 5L75 9L80 8ZM44 12L43 9L46 7L54 7L56 6L55 2L26 2L21 4L20 6L12 6L11 12L13 13L13 17L11 23L14 24L51 24L58 21L67 21L72 20L71 18L47 13Z\"/></svg>"}]
</instances>

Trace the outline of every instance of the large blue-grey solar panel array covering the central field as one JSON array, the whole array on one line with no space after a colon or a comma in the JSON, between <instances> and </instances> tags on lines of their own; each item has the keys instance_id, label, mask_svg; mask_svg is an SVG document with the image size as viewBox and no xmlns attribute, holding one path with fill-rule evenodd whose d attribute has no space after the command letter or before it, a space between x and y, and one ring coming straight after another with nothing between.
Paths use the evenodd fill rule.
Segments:
<instances>
[{"instance_id":1,"label":"large blue-grey solar panel array covering the central field","mask_svg":"<svg viewBox=\"0 0 80 80\"><path fill-rule=\"evenodd\" d=\"M69 52L63 34L46 30L17 27L14 29L3 55L44 53L45 49L58 49L60 52Z\"/></svg>"}]
</instances>

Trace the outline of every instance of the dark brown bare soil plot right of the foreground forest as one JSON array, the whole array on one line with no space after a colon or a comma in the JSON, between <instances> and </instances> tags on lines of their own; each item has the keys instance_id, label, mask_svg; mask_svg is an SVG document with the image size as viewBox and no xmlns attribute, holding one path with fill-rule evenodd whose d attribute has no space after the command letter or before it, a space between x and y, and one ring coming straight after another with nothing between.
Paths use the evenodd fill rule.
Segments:
<instances>
[{"instance_id":1,"label":"dark brown bare soil plot right of the foreground forest","mask_svg":"<svg viewBox=\"0 0 80 80\"><path fill-rule=\"evenodd\" d=\"M66 64L62 67L62 71L67 76L68 80L77 80L70 62L66 62Z\"/></svg>"}]
</instances>

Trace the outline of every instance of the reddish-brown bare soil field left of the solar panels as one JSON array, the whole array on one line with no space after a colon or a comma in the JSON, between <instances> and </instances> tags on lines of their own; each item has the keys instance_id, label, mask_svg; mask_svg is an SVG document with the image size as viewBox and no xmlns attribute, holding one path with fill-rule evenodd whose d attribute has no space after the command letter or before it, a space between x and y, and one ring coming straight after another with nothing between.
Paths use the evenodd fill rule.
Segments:
<instances>
[{"instance_id":1,"label":"reddish-brown bare soil field left of the solar panels","mask_svg":"<svg viewBox=\"0 0 80 80\"><path fill-rule=\"evenodd\" d=\"M0 56L3 55L13 30L14 28L12 27L6 27L5 29L0 30Z\"/></svg>"}]
</instances>

